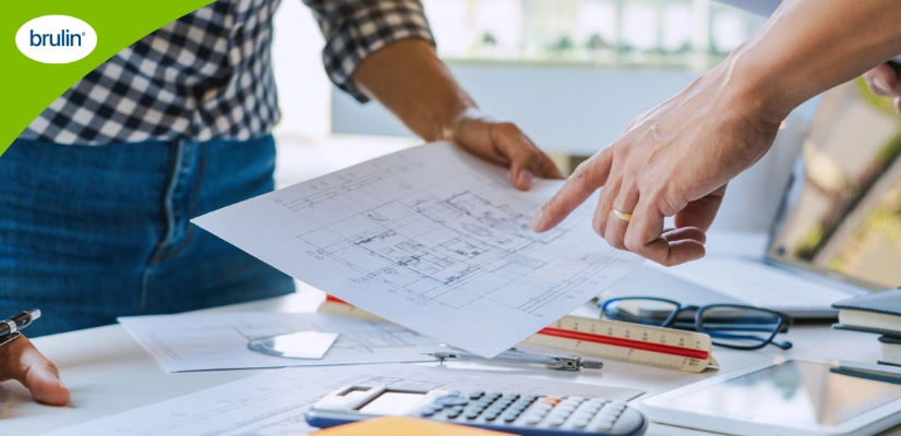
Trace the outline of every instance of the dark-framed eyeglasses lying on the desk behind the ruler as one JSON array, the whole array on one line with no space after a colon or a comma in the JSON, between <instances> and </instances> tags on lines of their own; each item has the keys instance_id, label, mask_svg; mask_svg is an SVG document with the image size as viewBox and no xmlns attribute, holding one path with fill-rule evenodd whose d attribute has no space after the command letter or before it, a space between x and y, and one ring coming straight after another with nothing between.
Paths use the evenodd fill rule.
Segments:
<instances>
[{"instance_id":1,"label":"dark-framed eyeglasses lying on the desk behind the ruler","mask_svg":"<svg viewBox=\"0 0 901 436\"><path fill-rule=\"evenodd\" d=\"M792 318L780 312L740 304L683 306L665 299L630 296L598 303L602 319L693 330L710 335L714 346L759 350L772 343L783 350L788 341L774 340L789 331ZM694 317L690 314L694 312Z\"/></svg>"}]
</instances>

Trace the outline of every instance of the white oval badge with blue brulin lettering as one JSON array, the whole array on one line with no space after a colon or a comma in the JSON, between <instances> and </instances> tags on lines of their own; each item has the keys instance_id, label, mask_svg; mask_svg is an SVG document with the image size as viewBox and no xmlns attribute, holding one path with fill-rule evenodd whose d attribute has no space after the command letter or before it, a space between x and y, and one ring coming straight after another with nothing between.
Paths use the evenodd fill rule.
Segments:
<instances>
[{"instance_id":1,"label":"white oval badge with blue brulin lettering","mask_svg":"<svg viewBox=\"0 0 901 436\"><path fill-rule=\"evenodd\" d=\"M19 27L15 46L22 55L38 62L70 63L94 51L97 33L74 16L44 15Z\"/></svg>"}]
</instances>

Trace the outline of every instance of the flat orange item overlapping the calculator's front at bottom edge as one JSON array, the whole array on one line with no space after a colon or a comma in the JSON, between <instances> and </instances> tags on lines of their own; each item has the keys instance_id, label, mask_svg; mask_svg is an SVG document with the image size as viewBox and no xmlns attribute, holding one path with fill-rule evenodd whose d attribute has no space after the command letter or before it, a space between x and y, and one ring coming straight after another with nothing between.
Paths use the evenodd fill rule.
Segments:
<instances>
[{"instance_id":1,"label":"flat orange item overlapping the calculator's front at bottom edge","mask_svg":"<svg viewBox=\"0 0 901 436\"><path fill-rule=\"evenodd\" d=\"M314 433L315 436L510 436L465 425L446 424L406 416L384 416L339 425Z\"/></svg>"}]
</instances>

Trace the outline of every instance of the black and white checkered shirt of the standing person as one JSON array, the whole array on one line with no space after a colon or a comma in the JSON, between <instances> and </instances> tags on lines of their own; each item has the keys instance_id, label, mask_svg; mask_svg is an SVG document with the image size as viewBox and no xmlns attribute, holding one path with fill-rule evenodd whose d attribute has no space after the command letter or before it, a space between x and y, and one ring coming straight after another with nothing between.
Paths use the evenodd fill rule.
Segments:
<instances>
[{"instance_id":1,"label":"black and white checkered shirt of the standing person","mask_svg":"<svg viewBox=\"0 0 901 436\"><path fill-rule=\"evenodd\" d=\"M249 140L280 112L269 46L280 0L220 0L144 37L88 73L20 135L61 144ZM303 0L314 12L332 81L391 41L434 44L419 0Z\"/></svg>"}]
</instances>

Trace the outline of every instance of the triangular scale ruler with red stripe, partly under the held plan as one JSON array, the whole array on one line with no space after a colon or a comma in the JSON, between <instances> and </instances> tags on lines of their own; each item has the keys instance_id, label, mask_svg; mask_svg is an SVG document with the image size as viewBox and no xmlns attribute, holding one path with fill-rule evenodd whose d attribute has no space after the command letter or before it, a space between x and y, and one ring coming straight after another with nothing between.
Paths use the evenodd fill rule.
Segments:
<instances>
[{"instance_id":1,"label":"triangular scale ruler with red stripe, partly under the held plan","mask_svg":"<svg viewBox=\"0 0 901 436\"><path fill-rule=\"evenodd\" d=\"M385 322L332 295L319 312ZM524 343L690 373L719 366L708 335L617 320L564 316Z\"/></svg>"}]
</instances>

